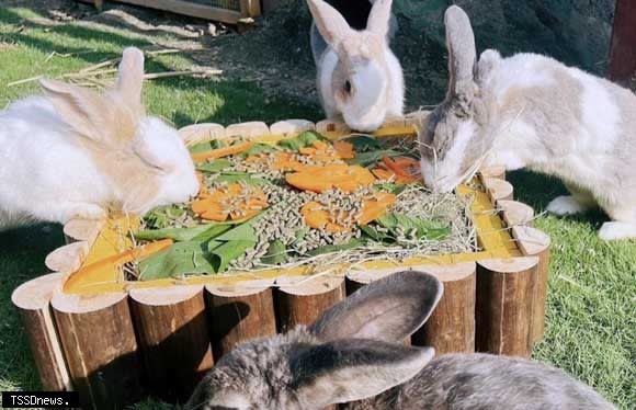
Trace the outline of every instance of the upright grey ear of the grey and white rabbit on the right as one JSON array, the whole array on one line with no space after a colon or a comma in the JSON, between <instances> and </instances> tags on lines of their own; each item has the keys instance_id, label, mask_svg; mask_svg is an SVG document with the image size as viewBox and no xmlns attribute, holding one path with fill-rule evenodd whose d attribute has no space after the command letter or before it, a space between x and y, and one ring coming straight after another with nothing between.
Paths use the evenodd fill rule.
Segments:
<instances>
[{"instance_id":1,"label":"upright grey ear of the grey and white rabbit on the right","mask_svg":"<svg viewBox=\"0 0 636 410\"><path fill-rule=\"evenodd\" d=\"M444 14L446 47L448 48L450 91L463 93L473 87L477 50L468 15L457 5Z\"/></svg>"}]
</instances>

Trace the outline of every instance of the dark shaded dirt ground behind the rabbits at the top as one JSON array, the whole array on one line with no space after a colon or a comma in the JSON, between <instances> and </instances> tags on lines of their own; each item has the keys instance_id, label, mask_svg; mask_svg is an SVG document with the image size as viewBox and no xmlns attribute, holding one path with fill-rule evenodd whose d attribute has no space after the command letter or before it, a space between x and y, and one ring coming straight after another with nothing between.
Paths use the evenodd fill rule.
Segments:
<instances>
[{"instance_id":1,"label":"dark shaded dirt ground behind the rabbits at the top","mask_svg":"<svg viewBox=\"0 0 636 410\"><path fill-rule=\"evenodd\" d=\"M105 3L103 12L70 0L0 0L1 4L38 9L56 24L81 20L105 24L169 42L202 67L215 67L230 80L253 81L266 95L318 104L316 68L309 49L310 15L304 2L259 18L239 34L219 23L150 9ZM407 83L407 111L440 102L446 89L443 10L450 1L395 0L399 31L391 48ZM524 49L555 56L602 75L611 34L613 1L558 0L549 7L525 0L457 1L472 16L478 48L504 55ZM514 5L516 4L516 5ZM514 12L512 12L514 11ZM168 39L169 38L169 39Z\"/></svg>"}]
</instances>

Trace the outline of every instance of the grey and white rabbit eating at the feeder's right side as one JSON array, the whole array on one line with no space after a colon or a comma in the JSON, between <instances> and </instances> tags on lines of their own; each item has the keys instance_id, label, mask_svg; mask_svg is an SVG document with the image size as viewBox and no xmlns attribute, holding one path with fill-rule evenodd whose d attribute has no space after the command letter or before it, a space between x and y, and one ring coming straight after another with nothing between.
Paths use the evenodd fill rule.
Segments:
<instances>
[{"instance_id":1,"label":"grey and white rabbit eating at the feeder's right side","mask_svg":"<svg viewBox=\"0 0 636 410\"><path fill-rule=\"evenodd\" d=\"M570 195L547 210L600 206L603 240L636 237L636 95L536 54L477 60L466 13L444 16L450 83L419 134L425 184L451 191L480 166L527 168L561 179Z\"/></svg>"}]
</instances>

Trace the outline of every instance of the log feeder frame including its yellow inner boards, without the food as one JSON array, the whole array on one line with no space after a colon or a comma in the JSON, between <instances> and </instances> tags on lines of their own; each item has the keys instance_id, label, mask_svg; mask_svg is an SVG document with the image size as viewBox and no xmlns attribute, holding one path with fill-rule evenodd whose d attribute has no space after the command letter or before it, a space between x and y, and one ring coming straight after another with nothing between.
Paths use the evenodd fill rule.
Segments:
<instances>
[{"instance_id":1,"label":"log feeder frame including its yellow inner boards, without the food","mask_svg":"<svg viewBox=\"0 0 636 410\"><path fill-rule=\"evenodd\" d=\"M425 114L406 116L376 135L414 135L423 121ZM328 138L350 134L341 123L303 119L198 124L181 134L188 144L237 135L274 141L308 129ZM69 244L46 259L57 273L13 294L42 386L78 390L87 409L122 408L148 394L183 402L237 343L309 323L365 284L407 269L434 274L445 287L436 310L407 343L439 353L527 356L543 334L549 238L532 227L533 209L512 200L503 176L501 169L487 169L475 178L477 187L457 187L475 195L478 252L401 263L129 282L113 263L94 263L133 249L127 234L138 220L72 220L64 228Z\"/></svg>"}]
</instances>

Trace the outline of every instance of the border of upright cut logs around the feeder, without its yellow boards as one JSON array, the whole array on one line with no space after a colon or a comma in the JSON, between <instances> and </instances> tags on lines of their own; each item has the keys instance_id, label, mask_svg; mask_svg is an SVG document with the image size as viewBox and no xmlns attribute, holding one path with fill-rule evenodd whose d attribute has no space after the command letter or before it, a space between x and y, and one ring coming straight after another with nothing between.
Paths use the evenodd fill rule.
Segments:
<instances>
[{"instance_id":1,"label":"border of upright cut logs around the feeder, without its yellow boards","mask_svg":"<svg viewBox=\"0 0 636 410\"><path fill-rule=\"evenodd\" d=\"M412 129L423 121L425 116L420 114L397 119L390 126ZM262 135L263 125L243 123L226 128L200 124L180 132L189 144L196 144L245 133ZM304 119L289 119L273 124L268 132L271 137L280 138L307 129L325 133L347 130L343 124L330 121L314 124ZM209 368L237 343L307 323L366 283L406 269L435 274L446 288L435 312L413 335L412 344L433 345L442 353L488 351L527 356L544 331L549 238L532 227L532 208L512 201L512 185L502 179L504 172L501 169L486 169L481 174L490 201L499 210L504 226L512 230L514 246L522 253L520 257L506 261L457 260L447 264L350 271L347 275L332 273L309 278L285 276L193 286L177 282L168 288L132 289L92 296L71 295L63 292L63 285L100 237L104 221L70 221L64 227L68 244L52 252L46 260L47 266L58 271L54 276L43 276L49 277L49 283L54 285L49 286L50 292L47 291L50 296L39 298L36 308L31 310L21 303L24 288L35 286L42 278L27 282L13 295L14 305L21 312L32 315L35 311L36 315L49 317L47 326L37 327L23 315L33 354L42 362L37 366L42 384L52 390L76 388L82 402L93 408L124 407L148 391L160 394L157 386L166 384L178 386L178 391L163 391L167 398L182 400L194 387L201 372ZM511 294L515 297L510 297ZM495 296L488 296L492 300L485 300L484 295ZM503 308L496 308L498 306ZM224 322L220 316L227 311L235 311L235 317L224 316ZM193 351L201 353L205 350L205 353L200 357L189 357L189 365L184 366L188 368L183 373L169 371L174 364L162 363L157 357L174 357L174 346L162 342L170 338L172 331L188 328L192 319L201 315L205 320L198 320L196 326L186 331L186 334L193 335L192 339L188 337L180 340L191 343ZM157 323L159 329L152 329L155 323L151 317L162 318L161 323ZM167 323L163 320L166 318L172 322ZM76 332L73 329L80 326L81 332ZM491 334L490 329L497 329L497 334ZM95 352L94 346L103 346L104 342L115 350ZM43 351L43 343L57 345L58 351L64 352L61 363L61 353L55 356L49 352L52 349ZM120 360L118 356L125 358ZM174 362L173 358L171 361ZM117 362L114 367L112 362ZM104 372L109 376L110 368L125 374L128 383L104 386L102 378ZM151 375L156 372L164 373ZM95 377L95 374L101 376ZM160 376L161 383L152 388L152 380L157 377L149 375Z\"/></svg>"}]
</instances>

